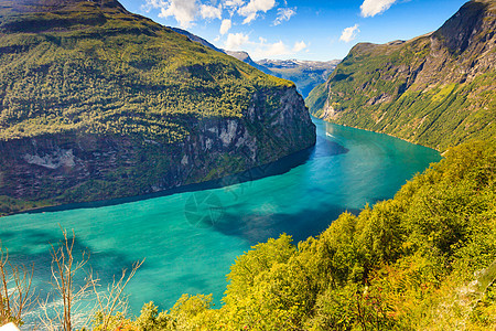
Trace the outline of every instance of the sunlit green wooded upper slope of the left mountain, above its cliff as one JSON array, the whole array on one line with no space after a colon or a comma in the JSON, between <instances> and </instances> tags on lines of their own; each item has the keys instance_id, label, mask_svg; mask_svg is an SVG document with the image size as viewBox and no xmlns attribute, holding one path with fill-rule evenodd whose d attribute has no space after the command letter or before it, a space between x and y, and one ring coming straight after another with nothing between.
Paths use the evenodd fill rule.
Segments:
<instances>
[{"instance_id":1,"label":"sunlit green wooded upper slope of the left mountain, above its cliff","mask_svg":"<svg viewBox=\"0 0 496 331\"><path fill-rule=\"evenodd\" d=\"M2 17L1 140L77 130L175 142L197 118L241 117L257 90L292 85L148 19L74 6Z\"/></svg>"}]
</instances>

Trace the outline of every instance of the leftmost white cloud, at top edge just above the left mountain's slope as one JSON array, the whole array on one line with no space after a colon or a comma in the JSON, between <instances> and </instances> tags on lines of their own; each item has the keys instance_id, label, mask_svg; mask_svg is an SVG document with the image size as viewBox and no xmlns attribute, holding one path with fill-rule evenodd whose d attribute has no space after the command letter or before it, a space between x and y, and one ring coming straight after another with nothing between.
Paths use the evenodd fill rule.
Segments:
<instances>
[{"instance_id":1,"label":"leftmost white cloud, at top edge just above the left mountain's slope","mask_svg":"<svg viewBox=\"0 0 496 331\"><path fill-rule=\"evenodd\" d=\"M144 9L160 9L159 18L173 17L182 28L190 28L198 14L196 0L147 0Z\"/></svg>"}]
</instances>

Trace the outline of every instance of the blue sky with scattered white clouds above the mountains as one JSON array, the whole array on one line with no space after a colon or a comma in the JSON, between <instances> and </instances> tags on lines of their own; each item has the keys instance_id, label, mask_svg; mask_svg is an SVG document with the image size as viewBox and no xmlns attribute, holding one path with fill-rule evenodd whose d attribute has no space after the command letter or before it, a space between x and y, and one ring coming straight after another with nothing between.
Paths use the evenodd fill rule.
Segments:
<instances>
[{"instance_id":1,"label":"blue sky with scattered white clouds above the mountains","mask_svg":"<svg viewBox=\"0 0 496 331\"><path fill-rule=\"evenodd\" d=\"M465 0L121 0L129 11L187 30L254 60L343 58L358 42L436 30Z\"/></svg>"}]
</instances>

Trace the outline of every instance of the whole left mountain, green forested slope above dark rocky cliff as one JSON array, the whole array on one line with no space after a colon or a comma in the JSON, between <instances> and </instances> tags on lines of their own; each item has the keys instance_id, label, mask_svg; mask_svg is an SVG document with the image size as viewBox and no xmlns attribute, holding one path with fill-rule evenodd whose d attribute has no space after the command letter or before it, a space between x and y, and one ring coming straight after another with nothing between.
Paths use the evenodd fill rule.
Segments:
<instances>
[{"instance_id":1,"label":"whole left mountain, green forested slope above dark rocky cliff","mask_svg":"<svg viewBox=\"0 0 496 331\"><path fill-rule=\"evenodd\" d=\"M315 142L291 82L117 1L0 1L0 214L217 179Z\"/></svg>"}]
</instances>

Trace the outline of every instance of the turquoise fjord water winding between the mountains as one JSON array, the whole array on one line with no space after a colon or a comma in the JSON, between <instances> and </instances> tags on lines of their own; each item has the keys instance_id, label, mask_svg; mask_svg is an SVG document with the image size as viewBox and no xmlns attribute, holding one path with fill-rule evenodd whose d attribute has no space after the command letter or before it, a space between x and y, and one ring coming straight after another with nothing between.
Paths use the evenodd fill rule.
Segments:
<instances>
[{"instance_id":1,"label":"turquoise fjord water winding between the mountains","mask_svg":"<svg viewBox=\"0 0 496 331\"><path fill-rule=\"evenodd\" d=\"M0 218L0 239L15 263L34 263L35 285L50 280L50 245L61 226L76 233L103 282L145 258L128 286L139 313L153 300L169 309L182 293L213 293L218 305L235 258L281 233L319 235L342 212L390 199L440 154L421 146L314 119L315 148L188 192ZM271 174L263 177L266 174ZM241 183L229 183L241 181Z\"/></svg>"}]
</instances>

